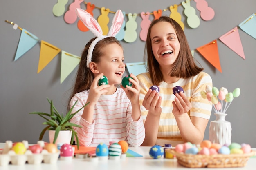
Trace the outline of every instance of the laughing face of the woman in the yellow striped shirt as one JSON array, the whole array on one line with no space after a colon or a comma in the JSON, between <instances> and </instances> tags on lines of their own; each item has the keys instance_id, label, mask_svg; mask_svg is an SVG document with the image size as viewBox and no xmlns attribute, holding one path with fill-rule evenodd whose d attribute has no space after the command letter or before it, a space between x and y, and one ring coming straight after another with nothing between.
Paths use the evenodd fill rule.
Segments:
<instances>
[{"instance_id":1,"label":"laughing face of the woman in the yellow striped shirt","mask_svg":"<svg viewBox=\"0 0 256 170\"><path fill-rule=\"evenodd\" d=\"M159 22L152 26L150 38L152 51L160 67L172 66L180 52L180 42L173 26Z\"/></svg>"}]
</instances>

